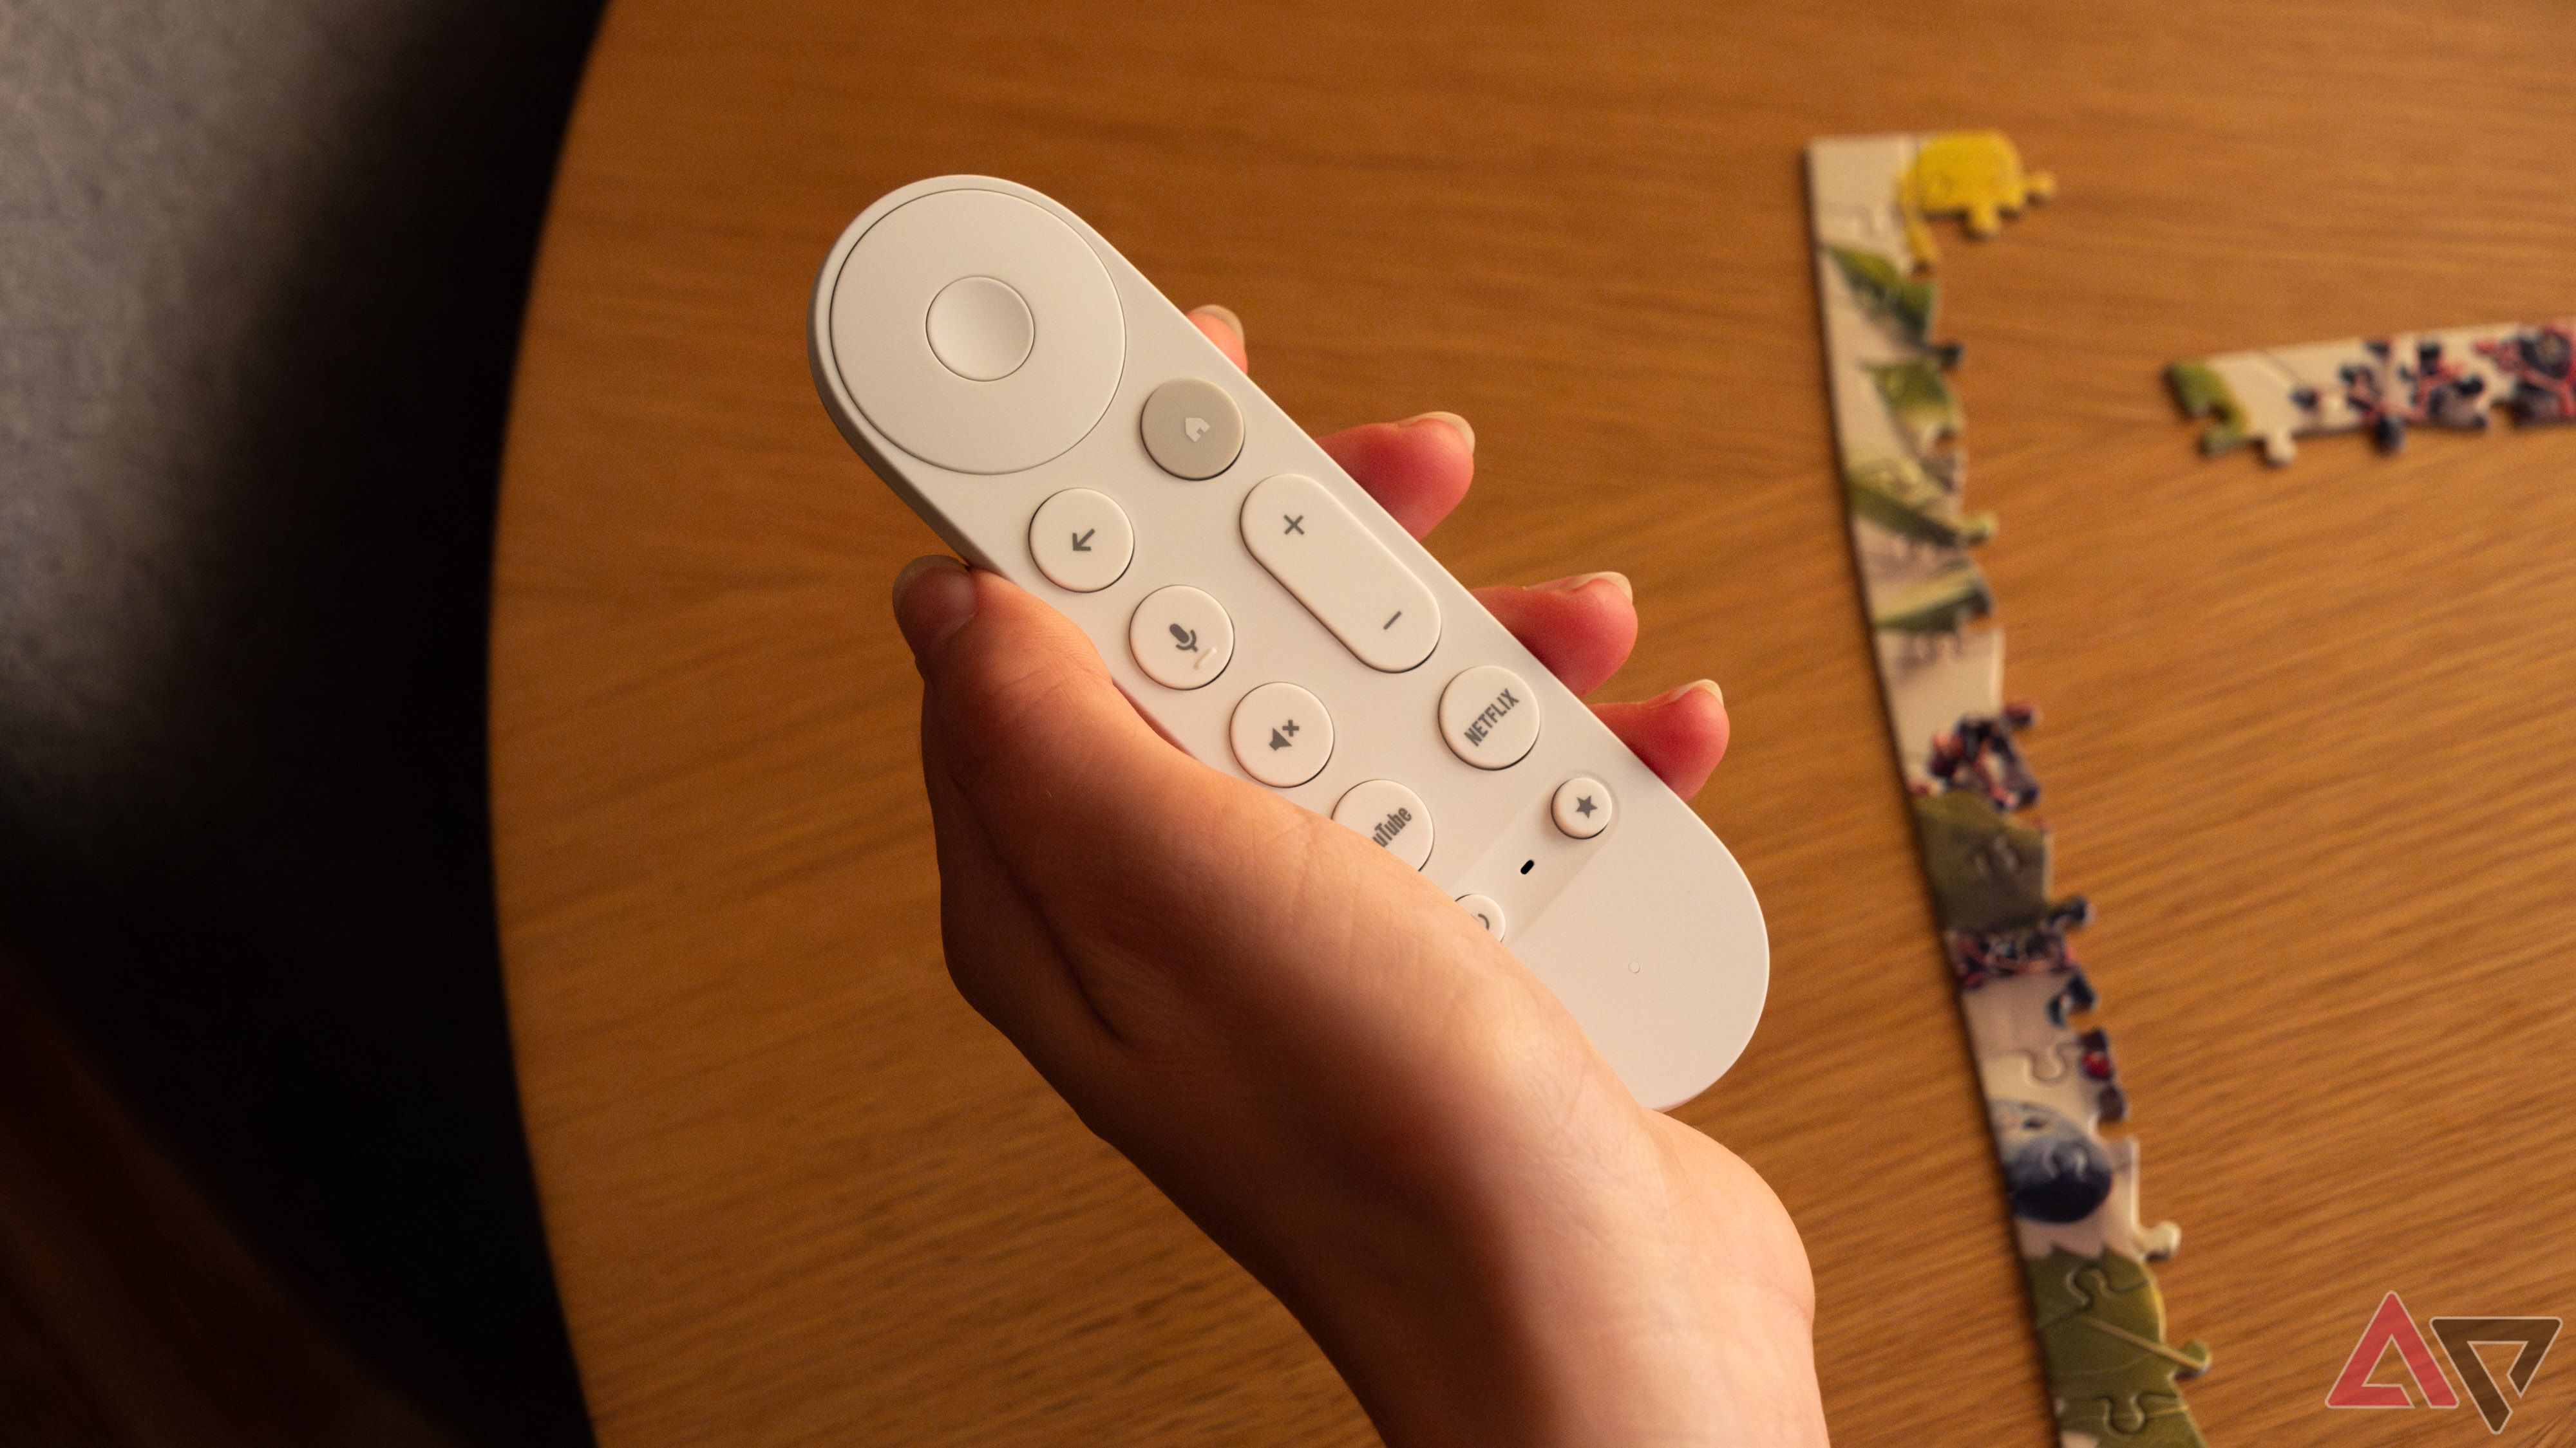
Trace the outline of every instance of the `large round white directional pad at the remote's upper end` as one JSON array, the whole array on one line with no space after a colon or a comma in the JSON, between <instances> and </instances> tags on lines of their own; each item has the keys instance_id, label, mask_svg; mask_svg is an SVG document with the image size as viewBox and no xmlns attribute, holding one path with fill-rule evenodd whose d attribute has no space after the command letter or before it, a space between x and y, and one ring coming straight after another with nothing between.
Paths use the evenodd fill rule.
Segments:
<instances>
[{"instance_id":1,"label":"large round white directional pad at the remote's upper end","mask_svg":"<svg viewBox=\"0 0 2576 1448\"><path fill-rule=\"evenodd\" d=\"M1025 332L1010 301L1025 304ZM1020 335L1025 356L1002 356ZM1064 453L1108 412L1123 361L1126 317L1100 258L999 191L896 206L832 283L842 386L894 446L951 472L1023 472Z\"/></svg>"}]
</instances>

